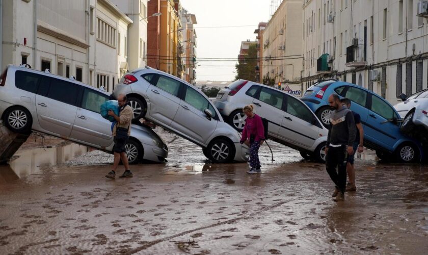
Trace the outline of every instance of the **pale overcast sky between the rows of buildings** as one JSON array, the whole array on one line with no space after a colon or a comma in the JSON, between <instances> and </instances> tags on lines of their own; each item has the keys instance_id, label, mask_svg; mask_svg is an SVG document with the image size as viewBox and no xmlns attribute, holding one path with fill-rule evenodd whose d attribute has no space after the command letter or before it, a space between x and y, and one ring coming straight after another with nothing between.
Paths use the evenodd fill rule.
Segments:
<instances>
[{"instance_id":1,"label":"pale overcast sky between the rows of buildings","mask_svg":"<svg viewBox=\"0 0 428 255\"><path fill-rule=\"evenodd\" d=\"M233 58L227 62L200 61L197 81L233 81L240 43L256 40L259 22L268 22L271 0L181 0L196 15L197 58ZM232 27L233 28L230 28ZM239 26L239 27L238 27ZM211 28L222 27L222 28ZM224 28L229 27L229 28Z\"/></svg>"}]
</instances>

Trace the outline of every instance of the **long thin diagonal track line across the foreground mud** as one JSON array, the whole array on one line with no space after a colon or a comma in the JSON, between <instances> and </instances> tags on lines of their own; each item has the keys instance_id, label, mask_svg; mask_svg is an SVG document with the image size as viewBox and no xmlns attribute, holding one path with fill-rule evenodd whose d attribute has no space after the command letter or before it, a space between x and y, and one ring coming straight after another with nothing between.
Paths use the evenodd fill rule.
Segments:
<instances>
[{"instance_id":1,"label":"long thin diagonal track line across the foreground mud","mask_svg":"<svg viewBox=\"0 0 428 255\"><path fill-rule=\"evenodd\" d=\"M169 236L169 237L164 237L164 238L161 238L161 239L153 240L153 241L148 242L148 243L146 243L146 244L144 244L144 245L142 245L142 246L140 246L138 248L132 249L132 250L130 250L130 251L124 253L124 254L137 253L137 252L142 251L144 249L147 249L147 248L149 248L149 247L151 247L151 246L153 246L155 244L158 244L158 243L161 243L161 242L165 242L165 241L171 240L171 239L176 238L176 237L184 236L184 235L190 234L192 232L196 232L196 231L200 231L200 230L206 230L207 228L217 227L217 226L221 226L221 225L224 225L224 224L234 223L234 222L239 221L239 220L246 220L246 219L252 218L253 216L255 216L257 214L260 214L260 213L269 211L271 209L277 208L279 206L282 206L282 205L284 205L284 203L287 203L287 202L288 201L280 201L280 202L274 203L271 206L263 207L263 208L261 208L259 210L256 210L255 212L247 214L245 216L240 216L240 217L237 217L237 218L234 218L234 219L230 219L230 220L226 220L226 221L221 221L221 222L218 222L218 223L215 223L215 224L211 224L211 225L207 225L207 226L202 226L202 227L194 228L193 230L188 230L188 231L184 231L184 232L181 232L181 233Z\"/></svg>"}]
</instances>

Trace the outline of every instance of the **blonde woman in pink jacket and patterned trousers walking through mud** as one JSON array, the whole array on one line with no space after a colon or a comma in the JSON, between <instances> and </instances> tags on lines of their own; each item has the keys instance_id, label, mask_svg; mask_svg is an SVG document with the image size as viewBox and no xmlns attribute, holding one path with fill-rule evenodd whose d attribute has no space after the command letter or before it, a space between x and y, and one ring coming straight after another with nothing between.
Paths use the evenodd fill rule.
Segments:
<instances>
[{"instance_id":1,"label":"blonde woman in pink jacket and patterned trousers walking through mud","mask_svg":"<svg viewBox=\"0 0 428 255\"><path fill-rule=\"evenodd\" d=\"M240 143L245 143L250 146L251 169L247 171L247 173L261 173L258 149L265 139L263 122L260 116L253 113L252 105L245 106L243 111L244 114L247 115L247 119L245 120L245 126L242 131Z\"/></svg>"}]
</instances>

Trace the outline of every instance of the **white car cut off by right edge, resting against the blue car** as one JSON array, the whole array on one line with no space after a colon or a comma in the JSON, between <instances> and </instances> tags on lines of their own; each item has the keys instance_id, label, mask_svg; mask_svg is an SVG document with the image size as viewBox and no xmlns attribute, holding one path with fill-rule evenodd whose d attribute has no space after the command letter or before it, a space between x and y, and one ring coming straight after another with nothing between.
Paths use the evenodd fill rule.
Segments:
<instances>
[{"instance_id":1,"label":"white car cut off by right edge, resting against the blue car","mask_svg":"<svg viewBox=\"0 0 428 255\"><path fill-rule=\"evenodd\" d=\"M401 131L428 140L428 89L416 92L408 98L402 94L400 98L403 102L396 104L394 108L404 118ZM417 134L414 134L414 131Z\"/></svg>"}]
</instances>

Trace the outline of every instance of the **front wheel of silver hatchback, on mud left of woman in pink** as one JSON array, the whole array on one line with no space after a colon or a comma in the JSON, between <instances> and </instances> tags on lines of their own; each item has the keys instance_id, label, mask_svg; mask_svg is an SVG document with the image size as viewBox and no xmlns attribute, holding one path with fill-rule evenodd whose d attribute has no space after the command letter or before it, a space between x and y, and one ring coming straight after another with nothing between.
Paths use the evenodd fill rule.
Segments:
<instances>
[{"instance_id":1,"label":"front wheel of silver hatchback, on mud left of woman in pink","mask_svg":"<svg viewBox=\"0 0 428 255\"><path fill-rule=\"evenodd\" d=\"M212 141L207 148L208 159L215 163L228 163L235 157L235 147L226 139Z\"/></svg>"}]
</instances>

